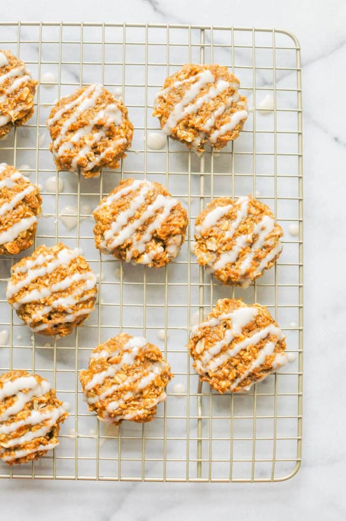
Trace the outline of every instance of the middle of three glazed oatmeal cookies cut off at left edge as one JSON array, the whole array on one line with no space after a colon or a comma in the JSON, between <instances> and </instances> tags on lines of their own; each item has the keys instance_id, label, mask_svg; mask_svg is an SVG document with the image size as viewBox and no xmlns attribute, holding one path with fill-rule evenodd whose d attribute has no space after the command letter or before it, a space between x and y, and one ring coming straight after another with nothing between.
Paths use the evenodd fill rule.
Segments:
<instances>
[{"instance_id":1,"label":"middle of three glazed oatmeal cookies cut off at left edge","mask_svg":"<svg viewBox=\"0 0 346 521\"><path fill-rule=\"evenodd\" d=\"M34 240L40 192L13 166L0 164L0 255L15 255Z\"/></svg>"}]
</instances>

